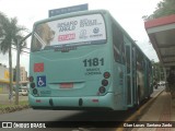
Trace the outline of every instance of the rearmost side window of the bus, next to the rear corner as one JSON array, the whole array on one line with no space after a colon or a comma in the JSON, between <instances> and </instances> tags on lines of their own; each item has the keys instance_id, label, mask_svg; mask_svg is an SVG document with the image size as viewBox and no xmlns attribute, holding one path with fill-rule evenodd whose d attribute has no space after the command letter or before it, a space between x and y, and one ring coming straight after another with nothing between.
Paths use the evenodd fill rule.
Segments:
<instances>
[{"instance_id":1,"label":"rearmost side window of the bus, next to the rear corner","mask_svg":"<svg viewBox=\"0 0 175 131\"><path fill-rule=\"evenodd\" d=\"M125 63L124 34L120 28L113 23L113 47L116 62Z\"/></svg>"}]
</instances>

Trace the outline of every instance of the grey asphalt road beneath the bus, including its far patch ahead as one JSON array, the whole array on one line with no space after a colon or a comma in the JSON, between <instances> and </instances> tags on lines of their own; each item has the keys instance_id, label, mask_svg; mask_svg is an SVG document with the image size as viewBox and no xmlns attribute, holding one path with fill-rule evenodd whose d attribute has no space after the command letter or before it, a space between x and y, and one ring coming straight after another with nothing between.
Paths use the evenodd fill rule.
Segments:
<instances>
[{"instance_id":1,"label":"grey asphalt road beneath the bus, including its far patch ahead","mask_svg":"<svg viewBox=\"0 0 175 131\"><path fill-rule=\"evenodd\" d=\"M154 94L159 93L162 90L160 87L159 90L154 91ZM10 114L3 114L0 115L0 121L49 121L49 124L59 124L60 128L57 129L49 129L49 131L112 131L115 130L115 128L110 127L109 129L98 129L93 127L91 123L84 126L83 121L101 121L97 122L97 124L109 124L110 121L122 121L128 116L131 116L133 114L133 109L127 110L127 111L73 111L73 110L33 110L32 108L10 112ZM63 126L61 126L61 122ZM75 122L78 127L71 127L71 122ZM59 127L58 126L58 127ZM9 131L9 129L0 129L0 131ZM45 131L48 129L11 129L13 131Z\"/></svg>"}]
</instances>

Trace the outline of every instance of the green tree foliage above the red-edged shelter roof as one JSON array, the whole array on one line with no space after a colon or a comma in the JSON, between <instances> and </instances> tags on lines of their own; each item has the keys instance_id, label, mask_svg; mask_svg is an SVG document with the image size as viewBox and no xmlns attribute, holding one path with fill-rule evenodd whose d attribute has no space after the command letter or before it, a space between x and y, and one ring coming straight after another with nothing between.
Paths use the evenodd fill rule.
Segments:
<instances>
[{"instance_id":1,"label":"green tree foliage above the red-edged shelter roof","mask_svg":"<svg viewBox=\"0 0 175 131\"><path fill-rule=\"evenodd\" d=\"M149 21L152 19L158 19L161 16L166 16L175 14L175 0L163 0L156 4L156 9L151 15L143 15L142 19L144 21Z\"/></svg>"}]
</instances>

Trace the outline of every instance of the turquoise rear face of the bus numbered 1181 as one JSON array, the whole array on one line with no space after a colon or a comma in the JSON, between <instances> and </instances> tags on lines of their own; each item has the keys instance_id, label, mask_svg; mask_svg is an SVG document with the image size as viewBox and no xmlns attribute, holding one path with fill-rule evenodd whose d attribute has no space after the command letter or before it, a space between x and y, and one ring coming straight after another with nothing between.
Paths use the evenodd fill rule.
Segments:
<instances>
[{"instance_id":1,"label":"turquoise rear face of the bus numbered 1181","mask_svg":"<svg viewBox=\"0 0 175 131\"><path fill-rule=\"evenodd\" d=\"M113 108L107 13L81 12L35 23L30 56L34 109Z\"/></svg>"}]
</instances>

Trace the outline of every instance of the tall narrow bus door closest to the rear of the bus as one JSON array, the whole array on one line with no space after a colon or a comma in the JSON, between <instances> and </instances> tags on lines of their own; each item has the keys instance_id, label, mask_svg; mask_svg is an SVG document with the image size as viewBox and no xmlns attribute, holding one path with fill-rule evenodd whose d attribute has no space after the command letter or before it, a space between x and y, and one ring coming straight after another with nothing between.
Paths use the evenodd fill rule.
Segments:
<instances>
[{"instance_id":1,"label":"tall narrow bus door closest to the rear of the bus","mask_svg":"<svg viewBox=\"0 0 175 131\"><path fill-rule=\"evenodd\" d=\"M132 93L132 59L131 59L131 45L126 45L126 100L127 106L131 107L133 104L133 93Z\"/></svg>"}]
</instances>

